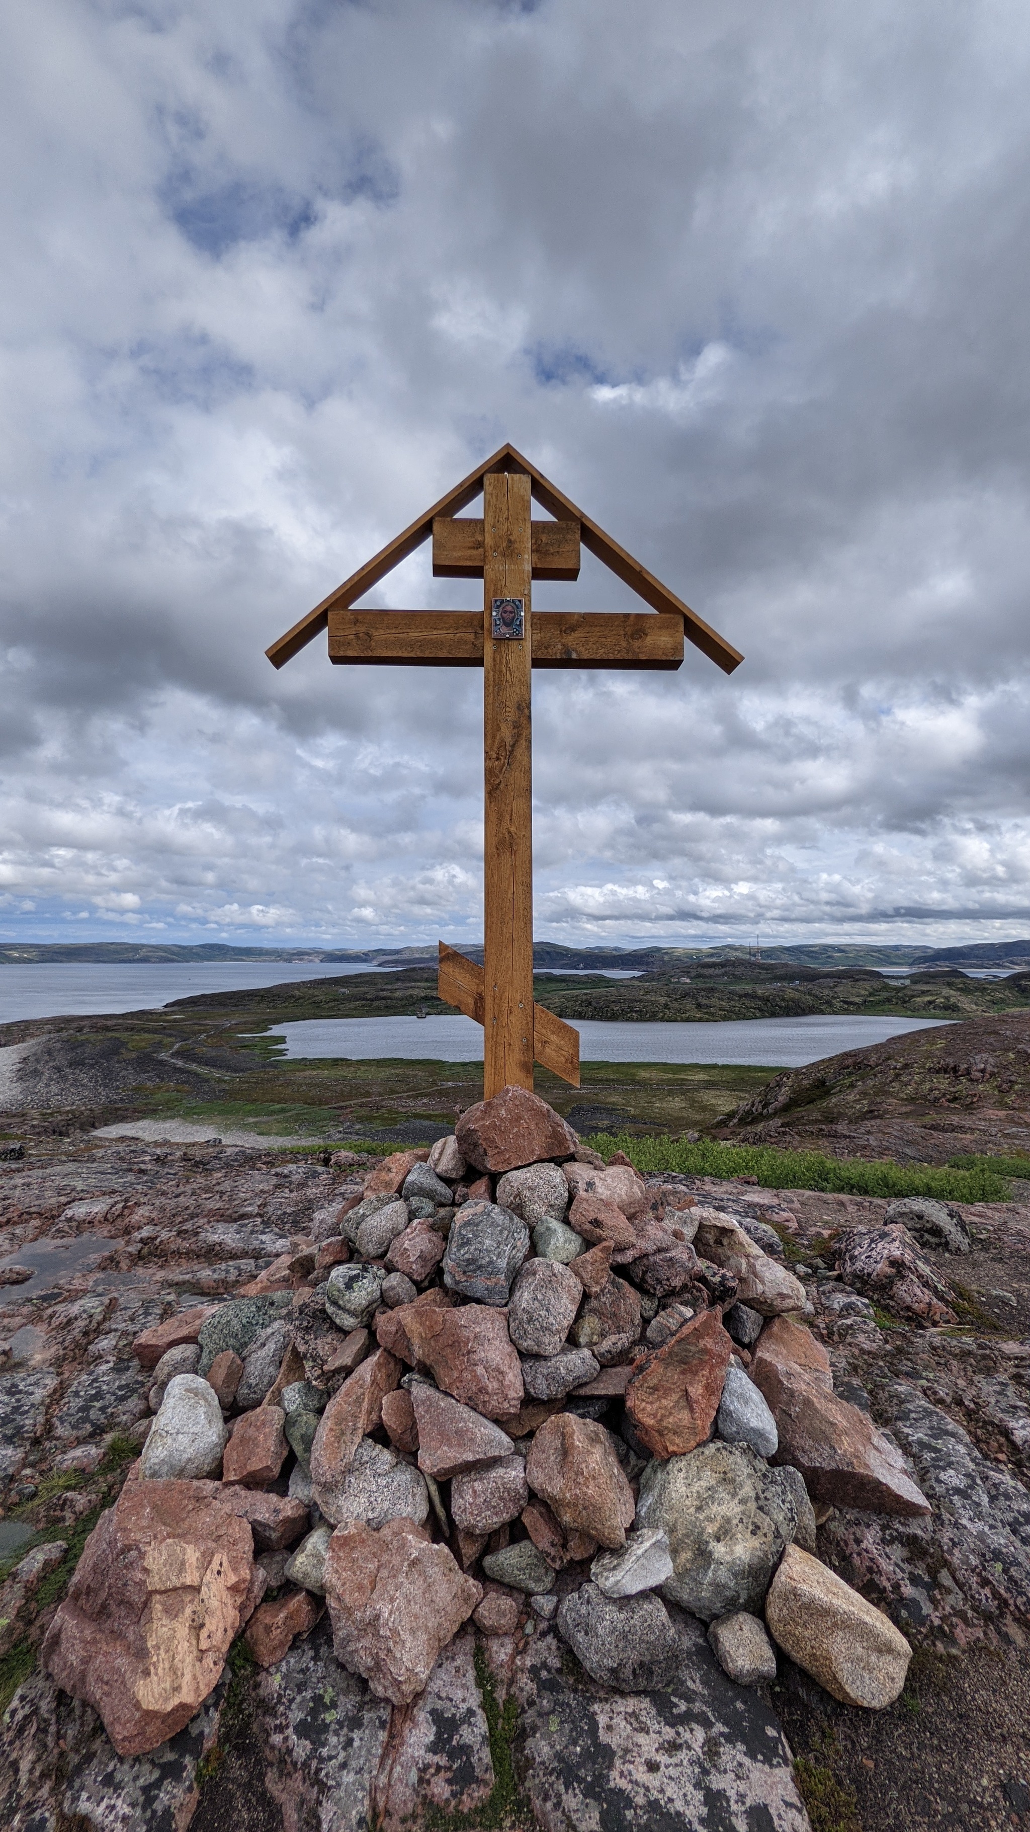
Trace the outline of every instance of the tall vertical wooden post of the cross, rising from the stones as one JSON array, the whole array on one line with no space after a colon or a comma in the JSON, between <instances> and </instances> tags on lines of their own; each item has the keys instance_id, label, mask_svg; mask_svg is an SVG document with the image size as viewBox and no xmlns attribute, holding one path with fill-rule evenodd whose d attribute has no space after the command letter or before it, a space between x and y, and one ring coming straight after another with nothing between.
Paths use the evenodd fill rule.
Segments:
<instances>
[{"instance_id":1,"label":"tall vertical wooden post of the cross, rising from the stones","mask_svg":"<svg viewBox=\"0 0 1030 1832\"><path fill-rule=\"evenodd\" d=\"M533 824L530 478L484 476L484 1099L533 1086ZM495 599L520 599L522 634L495 634ZM515 616L515 612L511 612Z\"/></svg>"}]
</instances>

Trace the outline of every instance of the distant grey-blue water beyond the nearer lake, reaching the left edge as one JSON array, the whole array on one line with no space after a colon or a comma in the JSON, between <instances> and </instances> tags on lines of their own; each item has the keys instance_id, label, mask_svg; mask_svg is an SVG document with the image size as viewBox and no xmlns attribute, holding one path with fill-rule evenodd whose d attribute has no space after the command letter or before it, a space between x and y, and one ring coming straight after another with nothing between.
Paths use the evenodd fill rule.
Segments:
<instances>
[{"instance_id":1,"label":"distant grey-blue water beyond the nearer lake, reaching the left edge","mask_svg":"<svg viewBox=\"0 0 1030 1832\"><path fill-rule=\"evenodd\" d=\"M198 993L235 993L295 980L337 980L345 973L400 973L407 965L409 962L383 967L368 965L368 962L348 965L339 960L202 960L196 964L185 960L26 960L24 965L0 965L0 1024L13 1024L15 1019L156 1011L172 998L192 998ZM601 969L577 967L572 971L597 973ZM607 980L634 980L636 976L636 973L605 969Z\"/></svg>"}]
</instances>

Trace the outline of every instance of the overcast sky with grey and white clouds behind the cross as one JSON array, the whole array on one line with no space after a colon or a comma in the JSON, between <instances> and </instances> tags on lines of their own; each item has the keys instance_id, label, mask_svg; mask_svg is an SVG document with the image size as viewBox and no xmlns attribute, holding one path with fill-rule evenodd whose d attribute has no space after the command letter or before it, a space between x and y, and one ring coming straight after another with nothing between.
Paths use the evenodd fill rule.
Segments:
<instances>
[{"instance_id":1,"label":"overcast sky with grey and white clouds behind the cross","mask_svg":"<svg viewBox=\"0 0 1030 1832\"><path fill-rule=\"evenodd\" d=\"M506 438L746 654L537 676L541 936L1030 932L1025 4L4 11L0 936L478 934L478 674L264 649Z\"/></svg>"}]
</instances>

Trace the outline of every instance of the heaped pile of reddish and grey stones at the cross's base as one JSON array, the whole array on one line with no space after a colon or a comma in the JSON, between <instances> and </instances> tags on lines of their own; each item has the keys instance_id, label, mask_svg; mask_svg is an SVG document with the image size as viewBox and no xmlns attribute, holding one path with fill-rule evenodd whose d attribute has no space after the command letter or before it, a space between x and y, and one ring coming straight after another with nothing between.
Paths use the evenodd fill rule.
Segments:
<instances>
[{"instance_id":1,"label":"heaped pile of reddish and grey stones at the cross's base","mask_svg":"<svg viewBox=\"0 0 1030 1832\"><path fill-rule=\"evenodd\" d=\"M667 1605L740 1684L779 1647L845 1704L898 1696L909 1645L817 1559L816 1510L929 1504L761 1224L519 1088L431 1152L339 1160L310 1238L134 1343L156 1416L42 1647L121 1755L189 1722L240 1632L268 1667L324 1608L396 1706L469 1618L669 1685Z\"/></svg>"}]
</instances>

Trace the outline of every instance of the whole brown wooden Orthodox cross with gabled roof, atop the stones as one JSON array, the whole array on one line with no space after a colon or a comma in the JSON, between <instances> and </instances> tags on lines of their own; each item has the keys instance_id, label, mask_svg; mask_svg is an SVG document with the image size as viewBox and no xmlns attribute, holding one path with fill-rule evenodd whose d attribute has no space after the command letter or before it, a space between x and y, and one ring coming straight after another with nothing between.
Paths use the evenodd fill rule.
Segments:
<instances>
[{"instance_id":1,"label":"whole brown wooden Orthodox cross with gabled roof, atop the stones","mask_svg":"<svg viewBox=\"0 0 1030 1832\"><path fill-rule=\"evenodd\" d=\"M482 491L482 520L466 509ZM552 522L531 520L531 500ZM354 610L433 537L438 579L482 579L475 610ZM579 546L649 612L533 612L533 579L577 579ZM533 1004L533 830L530 698L533 669L678 669L684 636L726 674L744 658L502 445L440 502L315 605L268 650L280 669L328 625L330 661L482 669L486 766L484 965L440 943L440 998L484 1026L484 1099L531 1088L533 1061L579 1086L579 1033Z\"/></svg>"}]
</instances>

